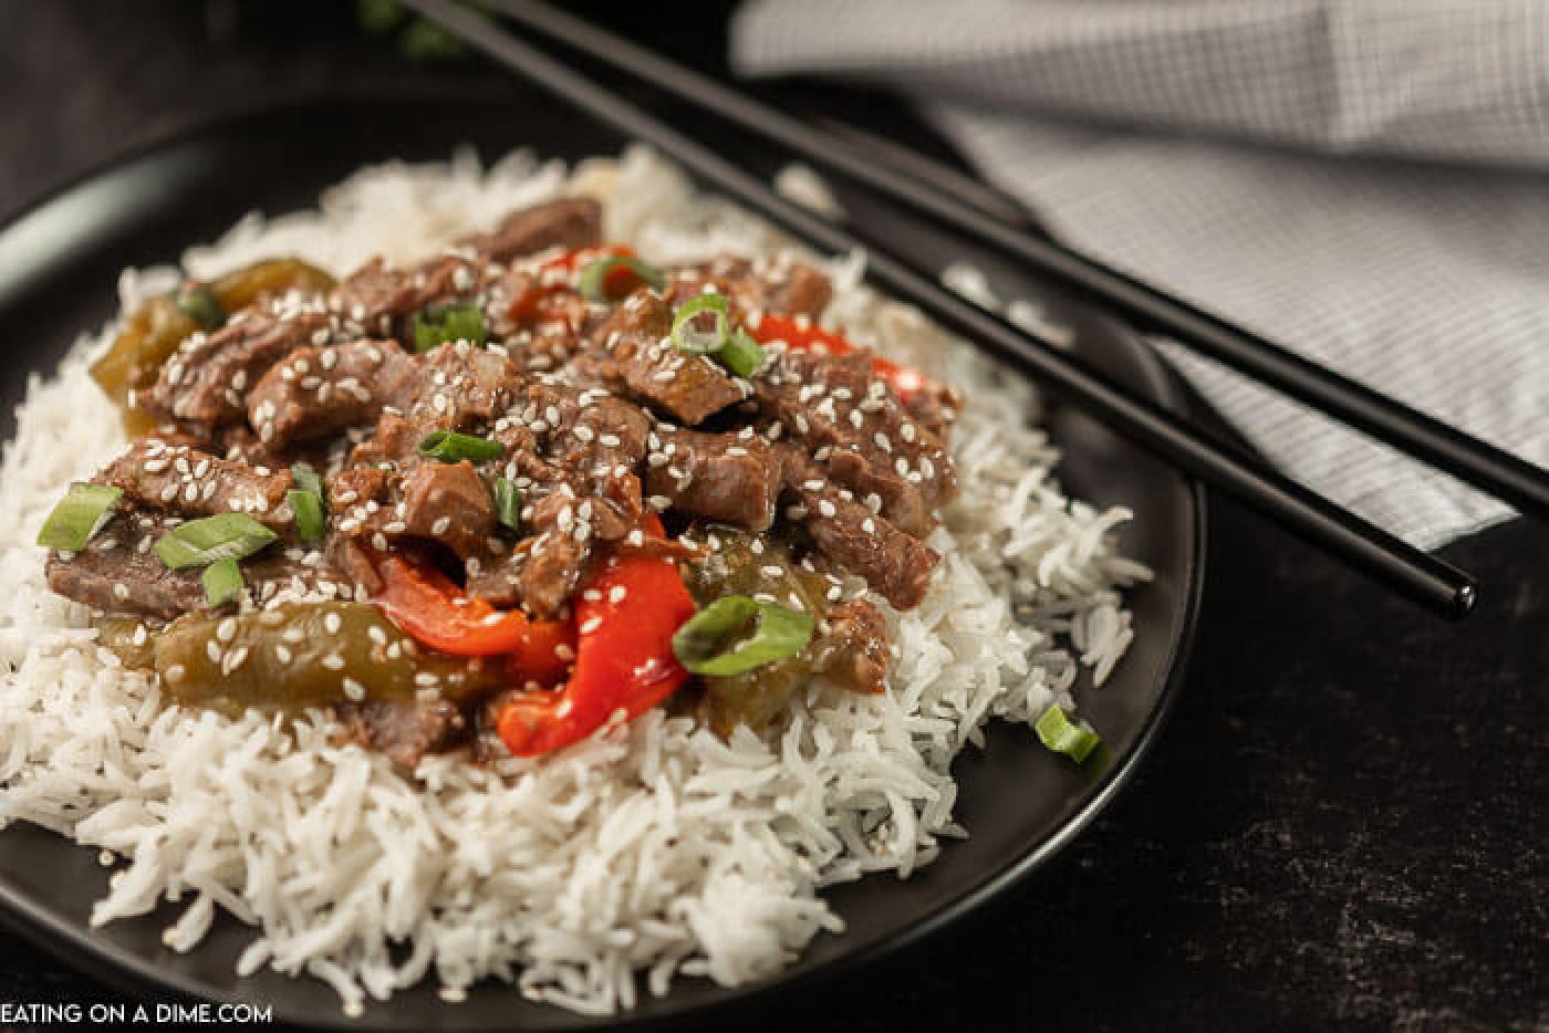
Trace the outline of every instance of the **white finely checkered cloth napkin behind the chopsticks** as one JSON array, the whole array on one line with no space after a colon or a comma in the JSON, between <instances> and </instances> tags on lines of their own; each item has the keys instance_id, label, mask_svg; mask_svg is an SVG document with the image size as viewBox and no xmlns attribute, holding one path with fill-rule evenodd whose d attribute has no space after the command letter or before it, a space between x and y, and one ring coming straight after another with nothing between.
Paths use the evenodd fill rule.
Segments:
<instances>
[{"instance_id":1,"label":"white finely checkered cloth napkin behind the chopsticks","mask_svg":"<svg viewBox=\"0 0 1549 1033\"><path fill-rule=\"evenodd\" d=\"M911 94L1061 240L1549 465L1549 0L751 0L731 48ZM1510 516L1162 347L1417 545Z\"/></svg>"}]
</instances>

